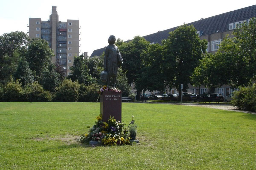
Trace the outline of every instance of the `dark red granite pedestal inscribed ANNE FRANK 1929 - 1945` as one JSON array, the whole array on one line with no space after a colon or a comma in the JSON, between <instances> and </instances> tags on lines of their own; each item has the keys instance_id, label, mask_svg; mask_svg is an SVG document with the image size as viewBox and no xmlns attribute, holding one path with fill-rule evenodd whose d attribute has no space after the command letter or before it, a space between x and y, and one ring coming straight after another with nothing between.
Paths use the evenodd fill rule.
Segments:
<instances>
[{"instance_id":1,"label":"dark red granite pedestal inscribed ANNE FRANK 1929 - 1945","mask_svg":"<svg viewBox=\"0 0 256 170\"><path fill-rule=\"evenodd\" d=\"M103 91L100 95L100 113L103 122L108 122L110 116L122 122L122 93Z\"/></svg>"}]
</instances>

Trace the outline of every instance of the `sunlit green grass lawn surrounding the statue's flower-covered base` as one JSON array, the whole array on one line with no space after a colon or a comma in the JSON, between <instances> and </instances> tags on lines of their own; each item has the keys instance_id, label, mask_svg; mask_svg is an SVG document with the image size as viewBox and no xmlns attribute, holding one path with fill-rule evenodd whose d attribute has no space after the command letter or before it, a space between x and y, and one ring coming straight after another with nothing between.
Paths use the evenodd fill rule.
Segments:
<instances>
[{"instance_id":1,"label":"sunlit green grass lawn surrounding the statue's flower-covered base","mask_svg":"<svg viewBox=\"0 0 256 170\"><path fill-rule=\"evenodd\" d=\"M256 115L122 103L139 144L76 142L100 103L0 103L0 169L256 169Z\"/></svg>"}]
</instances>

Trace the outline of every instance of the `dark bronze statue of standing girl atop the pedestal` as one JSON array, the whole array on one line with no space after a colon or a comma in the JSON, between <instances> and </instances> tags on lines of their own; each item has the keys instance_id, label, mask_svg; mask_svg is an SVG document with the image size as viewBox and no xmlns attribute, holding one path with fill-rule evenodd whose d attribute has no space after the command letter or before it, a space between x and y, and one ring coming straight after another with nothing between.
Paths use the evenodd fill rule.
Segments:
<instances>
[{"instance_id":1,"label":"dark bronze statue of standing girl atop the pedestal","mask_svg":"<svg viewBox=\"0 0 256 170\"><path fill-rule=\"evenodd\" d=\"M107 86L109 86L110 78L113 78L113 87L116 88L116 77L118 66L123 63L123 58L120 51L114 43L116 42L115 36L108 38L109 45L105 48L104 56L104 71L107 72Z\"/></svg>"}]
</instances>

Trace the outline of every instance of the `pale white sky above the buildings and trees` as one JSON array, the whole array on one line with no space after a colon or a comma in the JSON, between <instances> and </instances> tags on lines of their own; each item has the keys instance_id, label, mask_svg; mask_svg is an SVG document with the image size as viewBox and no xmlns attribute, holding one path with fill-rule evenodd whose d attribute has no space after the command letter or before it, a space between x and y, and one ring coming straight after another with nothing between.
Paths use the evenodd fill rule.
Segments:
<instances>
[{"instance_id":1,"label":"pale white sky above the buildings and trees","mask_svg":"<svg viewBox=\"0 0 256 170\"><path fill-rule=\"evenodd\" d=\"M108 45L108 37L116 36L124 41L135 36L146 36L167 30L200 18L208 18L225 12L255 5L254 0L235 3L222 1L171 1L171 0L1 0L0 35L12 31L27 32L29 17L49 19L52 6L57 6L60 21L79 19L81 47L88 52Z\"/></svg>"}]
</instances>

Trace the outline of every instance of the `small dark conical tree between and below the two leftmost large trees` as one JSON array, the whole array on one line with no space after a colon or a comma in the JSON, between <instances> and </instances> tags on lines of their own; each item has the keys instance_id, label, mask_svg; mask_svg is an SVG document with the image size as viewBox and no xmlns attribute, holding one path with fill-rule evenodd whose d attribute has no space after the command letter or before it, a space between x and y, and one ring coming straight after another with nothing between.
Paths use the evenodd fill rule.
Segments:
<instances>
[{"instance_id":1,"label":"small dark conical tree between and below the two leftmost large trees","mask_svg":"<svg viewBox=\"0 0 256 170\"><path fill-rule=\"evenodd\" d=\"M34 73L30 70L29 63L24 59L19 62L17 71L13 74L13 77L18 79L23 87L26 84L32 84L34 82Z\"/></svg>"}]
</instances>

